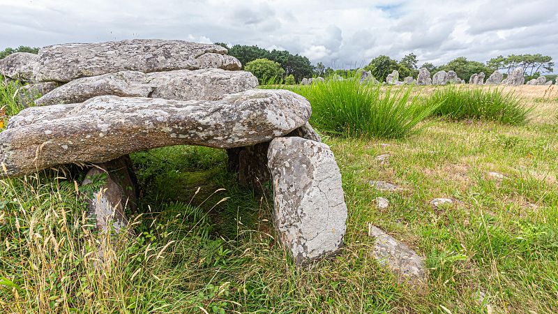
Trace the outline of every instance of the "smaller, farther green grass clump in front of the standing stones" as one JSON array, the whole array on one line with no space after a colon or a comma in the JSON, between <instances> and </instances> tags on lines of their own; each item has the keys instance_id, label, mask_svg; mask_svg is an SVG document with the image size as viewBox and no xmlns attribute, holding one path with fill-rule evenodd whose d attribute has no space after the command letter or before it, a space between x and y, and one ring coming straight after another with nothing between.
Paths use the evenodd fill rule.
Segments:
<instances>
[{"instance_id":1,"label":"smaller, farther green grass clump in front of the standing stones","mask_svg":"<svg viewBox=\"0 0 558 314\"><path fill-rule=\"evenodd\" d=\"M425 103L439 104L434 114L451 120L483 119L513 125L524 124L533 110L513 92L455 86L436 90Z\"/></svg>"}]
</instances>

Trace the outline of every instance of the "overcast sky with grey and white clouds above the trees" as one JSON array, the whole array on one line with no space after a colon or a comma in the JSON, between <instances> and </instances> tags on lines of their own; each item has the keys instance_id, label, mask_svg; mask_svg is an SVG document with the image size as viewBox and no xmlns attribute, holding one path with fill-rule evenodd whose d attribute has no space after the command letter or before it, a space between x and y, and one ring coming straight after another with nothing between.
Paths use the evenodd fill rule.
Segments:
<instances>
[{"instance_id":1,"label":"overcast sky with grey and white clouds above the trees","mask_svg":"<svg viewBox=\"0 0 558 314\"><path fill-rule=\"evenodd\" d=\"M558 0L0 0L0 49L127 38L258 45L349 68L379 54L435 65L542 53L558 63Z\"/></svg>"}]
</instances>

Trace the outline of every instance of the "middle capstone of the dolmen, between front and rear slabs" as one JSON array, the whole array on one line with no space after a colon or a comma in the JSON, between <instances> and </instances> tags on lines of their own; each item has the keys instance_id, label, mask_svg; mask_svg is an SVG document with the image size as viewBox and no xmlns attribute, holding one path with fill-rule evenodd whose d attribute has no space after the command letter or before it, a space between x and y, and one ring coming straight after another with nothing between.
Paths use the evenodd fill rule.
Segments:
<instances>
[{"instance_id":1,"label":"middle capstone of the dolmen, between front and rear slabs","mask_svg":"<svg viewBox=\"0 0 558 314\"><path fill-rule=\"evenodd\" d=\"M218 68L142 73L123 71L83 77L37 99L36 105L82 103L95 96L150 97L174 100L217 100L257 87L250 72Z\"/></svg>"}]
</instances>

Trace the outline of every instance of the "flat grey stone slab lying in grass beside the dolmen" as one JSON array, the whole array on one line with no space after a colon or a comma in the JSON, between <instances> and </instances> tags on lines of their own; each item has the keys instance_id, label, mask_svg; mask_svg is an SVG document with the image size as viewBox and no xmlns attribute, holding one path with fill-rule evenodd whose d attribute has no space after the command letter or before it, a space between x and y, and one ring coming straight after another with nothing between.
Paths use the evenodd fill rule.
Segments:
<instances>
[{"instance_id":1,"label":"flat grey stone slab lying in grass beside the dolmen","mask_svg":"<svg viewBox=\"0 0 558 314\"><path fill-rule=\"evenodd\" d=\"M427 276L423 257L374 225L368 225L368 236L375 238L372 257L382 266L391 269L401 283L407 282L418 287L426 286Z\"/></svg>"}]
</instances>

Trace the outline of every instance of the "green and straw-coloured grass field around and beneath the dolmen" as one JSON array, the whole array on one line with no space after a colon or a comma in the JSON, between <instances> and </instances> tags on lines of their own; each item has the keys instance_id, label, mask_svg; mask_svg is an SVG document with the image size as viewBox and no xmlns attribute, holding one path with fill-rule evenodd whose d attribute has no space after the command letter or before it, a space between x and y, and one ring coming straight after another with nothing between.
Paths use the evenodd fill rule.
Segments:
<instances>
[{"instance_id":1,"label":"green and straw-coloured grass field around and beneath the dolmen","mask_svg":"<svg viewBox=\"0 0 558 314\"><path fill-rule=\"evenodd\" d=\"M0 181L0 312L558 313L558 90L504 90L534 106L527 124L437 118L402 140L324 137L349 218L342 253L311 269L277 244L271 196L236 185L224 151L133 154L138 236L102 269L77 168ZM435 209L435 197L454 202ZM370 257L368 223L426 258L427 289L398 284Z\"/></svg>"}]
</instances>

